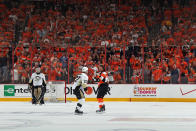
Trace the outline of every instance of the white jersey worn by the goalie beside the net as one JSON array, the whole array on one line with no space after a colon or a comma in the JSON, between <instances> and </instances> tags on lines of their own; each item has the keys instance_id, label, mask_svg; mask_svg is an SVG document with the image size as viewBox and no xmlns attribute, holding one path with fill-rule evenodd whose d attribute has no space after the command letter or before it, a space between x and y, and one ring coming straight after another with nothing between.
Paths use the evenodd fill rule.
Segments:
<instances>
[{"instance_id":1,"label":"white jersey worn by the goalie beside the net","mask_svg":"<svg viewBox=\"0 0 196 131\"><path fill-rule=\"evenodd\" d=\"M42 86L43 82L46 83L46 78L43 73L39 73L39 74L33 73L31 75L30 81L33 81L33 86Z\"/></svg>"}]
</instances>

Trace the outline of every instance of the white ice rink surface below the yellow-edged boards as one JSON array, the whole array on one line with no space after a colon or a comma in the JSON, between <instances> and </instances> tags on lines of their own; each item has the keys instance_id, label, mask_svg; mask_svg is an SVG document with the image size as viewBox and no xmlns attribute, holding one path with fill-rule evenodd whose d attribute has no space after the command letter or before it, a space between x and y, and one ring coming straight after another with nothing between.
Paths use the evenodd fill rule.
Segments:
<instances>
[{"instance_id":1,"label":"white ice rink surface below the yellow-edged boards","mask_svg":"<svg viewBox=\"0 0 196 131\"><path fill-rule=\"evenodd\" d=\"M196 131L196 103L105 102L96 114L96 102L86 102L82 116L75 102L0 102L0 131Z\"/></svg>"}]
</instances>

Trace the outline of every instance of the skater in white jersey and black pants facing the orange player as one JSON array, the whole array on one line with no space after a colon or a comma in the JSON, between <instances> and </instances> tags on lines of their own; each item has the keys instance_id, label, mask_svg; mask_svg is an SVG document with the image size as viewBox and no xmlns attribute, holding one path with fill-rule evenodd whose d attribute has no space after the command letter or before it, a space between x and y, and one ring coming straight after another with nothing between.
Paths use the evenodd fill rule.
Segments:
<instances>
[{"instance_id":1,"label":"skater in white jersey and black pants facing the orange player","mask_svg":"<svg viewBox=\"0 0 196 131\"><path fill-rule=\"evenodd\" d=\"M73 84L74 94L78 99L78 103L75 109L75 114L83 114L82 105L85 102L84 91L87 91L87 83L88 83L88 68L83 67L82 73L79 74Z\"/></svg>"}]
</instances>

